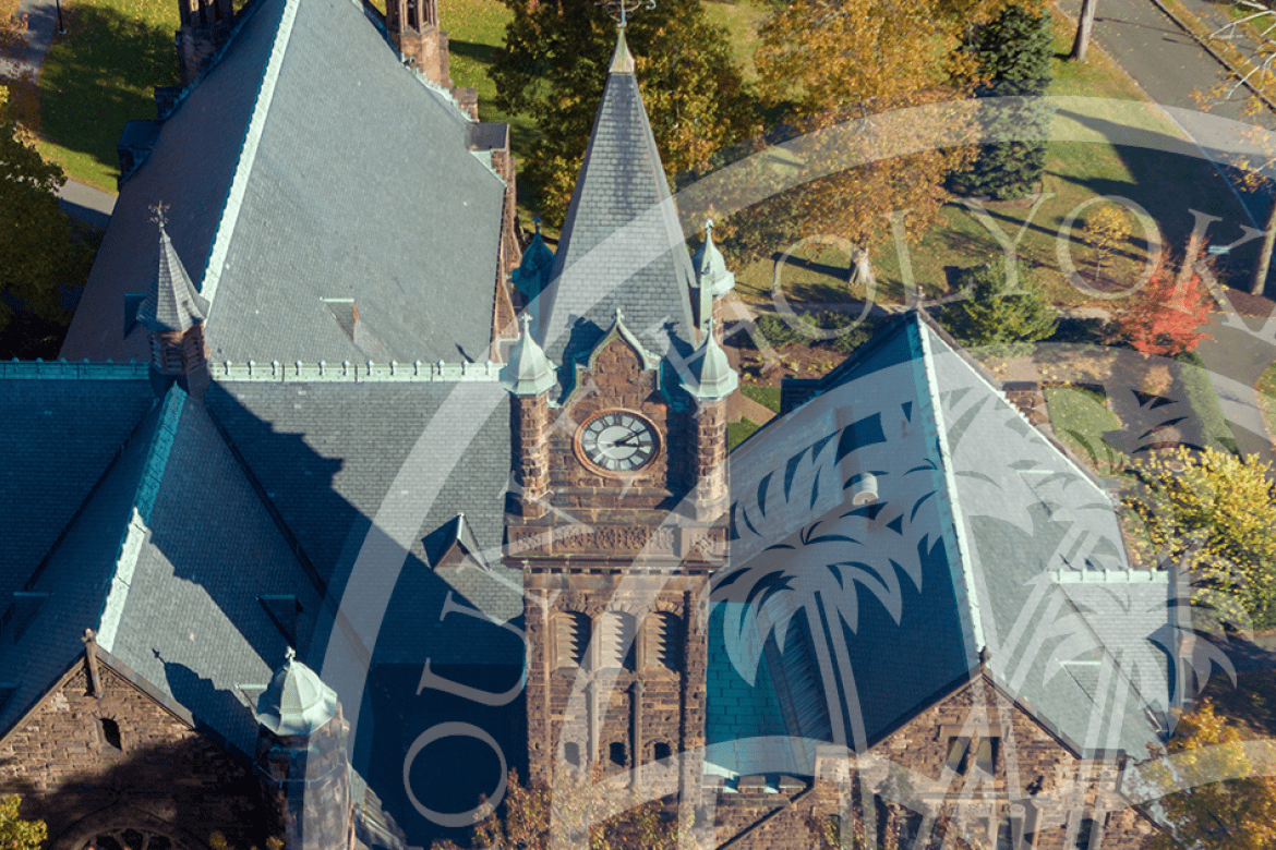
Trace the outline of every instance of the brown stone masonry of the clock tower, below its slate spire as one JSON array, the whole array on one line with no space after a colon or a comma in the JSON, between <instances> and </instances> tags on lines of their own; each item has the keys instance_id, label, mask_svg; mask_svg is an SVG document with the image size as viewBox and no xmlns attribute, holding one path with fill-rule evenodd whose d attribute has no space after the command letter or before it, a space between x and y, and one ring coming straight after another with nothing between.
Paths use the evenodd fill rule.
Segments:
<instances>
[{"instance_id":1,"label":"brown stone masonry of the clock tower, below its slate spire","mask_svg":"<svg viewBox=\"0 0 1276 850\"><path fill-rule=\"evenodd\" d=\"M717 409L675 409L658 380L618 333L561 409L542 394L512 413L524 489L507 516L507 557L526 587L533 781L549 780L560 758L609 774L704 743L704 605L716 566L706 553L721 552L725 531L720 516L671 508L718 456L707 443L725 450L725 426ZM634 473L596 468L578 443L579 427L610 410L638 414L657 433L656 456ZM690 775L680 785L689 782L698 788Z\"/></svg>"}]
</instances>

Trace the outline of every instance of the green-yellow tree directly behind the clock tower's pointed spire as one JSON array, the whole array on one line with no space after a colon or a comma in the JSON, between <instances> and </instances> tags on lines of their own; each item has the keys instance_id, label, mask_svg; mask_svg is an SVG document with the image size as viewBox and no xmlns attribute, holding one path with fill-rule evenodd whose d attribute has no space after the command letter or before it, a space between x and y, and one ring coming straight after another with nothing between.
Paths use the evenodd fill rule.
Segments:
<instances>
[{"instance_id":1,"label":"green-yellow tree directly behind the clock tower's pointed spire","mask_svg":"<svg viewBox=\"0 0 1276 850\"><path fill-rule=\"evenodd\" d=\"M505 3L514 19L489 71L495 104L535 120L538 134L519 178L540 190L540 214L559 227L602 101L616 24L593 0ZM757 130L727 33L698 0L643 6L625 25L625 41L670 177Z\"/></svg>"}]
</instances>

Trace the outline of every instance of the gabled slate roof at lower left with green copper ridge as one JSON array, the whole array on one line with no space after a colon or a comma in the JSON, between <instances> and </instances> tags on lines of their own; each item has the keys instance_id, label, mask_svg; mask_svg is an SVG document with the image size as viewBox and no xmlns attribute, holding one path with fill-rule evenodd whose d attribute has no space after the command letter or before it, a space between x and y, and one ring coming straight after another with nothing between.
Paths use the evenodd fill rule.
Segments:
<instances>
[{"instance_id":1,"label":"gabled slate roof at lower left with green copper ridge","mask_svg":"<svg viewBox=\"0 0 1276 850\"><path fill-rule=\"evenodd\" d=\"M256 596L296 595L311 624L319 612L314 585L203 405L176 387L134 433L33 589L47 603L0 652L0 681L22 684L0 711L0 729L83 654L80 636L92 627L105 651L244 753L253 752L256 724L237 686L268 681L286 649Z\"/></svg>"}]
</instances>

